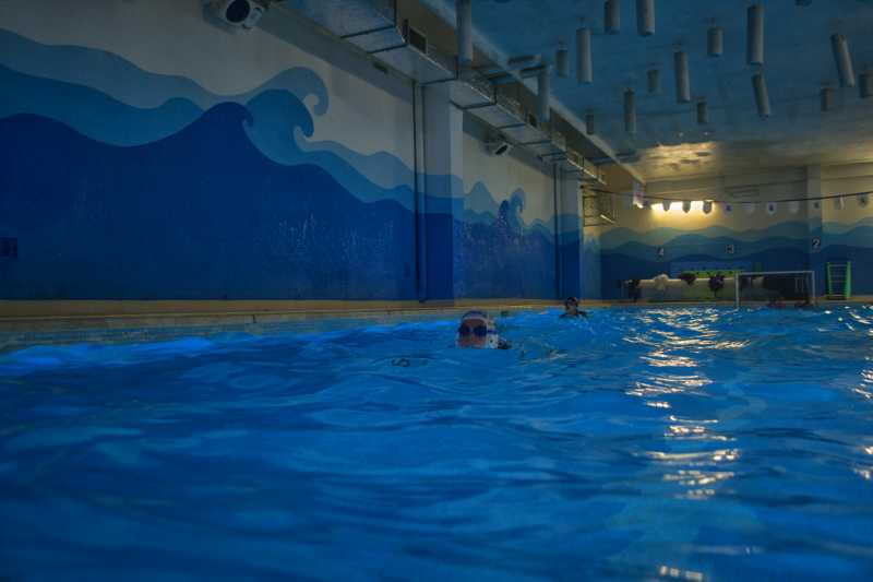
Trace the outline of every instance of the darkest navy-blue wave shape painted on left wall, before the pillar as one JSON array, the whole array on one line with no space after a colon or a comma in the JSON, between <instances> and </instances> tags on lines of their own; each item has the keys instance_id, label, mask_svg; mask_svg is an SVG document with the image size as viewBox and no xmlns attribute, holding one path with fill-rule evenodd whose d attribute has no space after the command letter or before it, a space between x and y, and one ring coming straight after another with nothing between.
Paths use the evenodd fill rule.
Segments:
<instances>
[{"instance_id":1,"label":"darkest navy-blue wave shape painted on left wall, before the pillar","mask_svg":"<svg viewBox=\"0 0 873 582\"><path fill-rule=\"evenodd\" d=\"M0 121L7 299L406 299L410 213L318 166L265 158L218 105L139 147L21 115Z\"/></svg>"}]
</instances>

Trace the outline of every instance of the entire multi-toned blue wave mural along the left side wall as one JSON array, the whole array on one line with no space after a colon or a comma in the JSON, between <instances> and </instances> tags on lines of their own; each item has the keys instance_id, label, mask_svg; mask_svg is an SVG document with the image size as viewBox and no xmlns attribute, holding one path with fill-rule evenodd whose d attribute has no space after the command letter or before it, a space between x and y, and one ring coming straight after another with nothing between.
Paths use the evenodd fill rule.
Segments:
<instances>
[{"instance_id":1,"label":"entire multi-toned blue wave mural along the left side wall","mask_svg":"<svg viewBox=\"0 0 873 582\"><path fill-rule=\"evenodd\" d=\"M306 142L330 107L310 70L228 98L104 51L0 47L2 298L414 299L417 224L451 233L428 245L429 298L554 296L554 235L523 191L434 195L421 223L399 158Z\"/></svg>"}]
</instances>

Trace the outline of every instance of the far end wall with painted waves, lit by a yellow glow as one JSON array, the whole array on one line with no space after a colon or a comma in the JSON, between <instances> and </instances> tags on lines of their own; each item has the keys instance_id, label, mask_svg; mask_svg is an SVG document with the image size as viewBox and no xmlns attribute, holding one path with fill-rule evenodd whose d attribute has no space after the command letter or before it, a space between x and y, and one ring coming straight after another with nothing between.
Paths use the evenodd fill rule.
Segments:
<instances>
[{"instance_id":1,"label":"far end wall with painted waves, lit by a yellow glow","mask_svg":"<svg viewBox=\"0 0 873 582\"><path fill-rule=\"evenodd\" d=\"M619 204L617 226L599 237L602 254L602 294L622 296L621 282L677 276L689 270L813 270L816 288L825 293L825 264L852 262L853 292L873 294L873 200L863 206L854 198L840 205L821 202L766 202L827 197L873 189L873 165L800 168L717 180L651 183L650 195L690 200L726 199L743 187L756 191L729 205L714 204L705 214L698 202L691 212L673 202L665 212L658 200L651 207ZM715 192L715 193L713 193ZM753 204L753 205L750 205Z\"/></svg>"}]
</instances>

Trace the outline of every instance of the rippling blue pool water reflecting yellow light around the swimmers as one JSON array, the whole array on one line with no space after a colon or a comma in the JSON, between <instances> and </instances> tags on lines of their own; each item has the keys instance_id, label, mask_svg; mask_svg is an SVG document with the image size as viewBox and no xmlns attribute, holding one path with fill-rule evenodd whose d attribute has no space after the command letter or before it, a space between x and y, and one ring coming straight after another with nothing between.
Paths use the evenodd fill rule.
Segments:
<instances>
[{"instance_id":1,"label":"rippling blue pool water reflecting yellow light around the swimmers","mask_svg":"<svg viewBox=\"0 0 873 582\"><path fill-rule=\"evenodd\" d=\"M873 309L0 356L2 580L873 579Z\"/></svg>"}]
</instances>

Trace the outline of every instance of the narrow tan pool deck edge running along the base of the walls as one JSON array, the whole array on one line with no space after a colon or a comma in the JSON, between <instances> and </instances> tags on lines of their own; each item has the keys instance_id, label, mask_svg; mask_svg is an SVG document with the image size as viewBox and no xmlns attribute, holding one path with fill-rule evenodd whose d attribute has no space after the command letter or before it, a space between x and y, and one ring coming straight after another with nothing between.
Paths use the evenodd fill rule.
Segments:
<instances>
[{"instance_id":1,"label":"narrow tan pool deck edge running along the base of the walls","mask_svg":"<svg viewBox=\"0 0 873 582\"><path fill-rule=\"evenodd\" d=\"M820 305L873 304L873 296ZM466 299L458 301L15 301L0 300L0 352L31 345L79 342L147 342L180 335L223 332L334 329L361 321L391 323L404 318L438 319L468 309L500 317L531 309L560 307L558 300ZM763 304L745 304L763 305ZM611 307L730 308L732 301L653 302L583 301L585 308Z\"/></svg>"}]
</instances>

